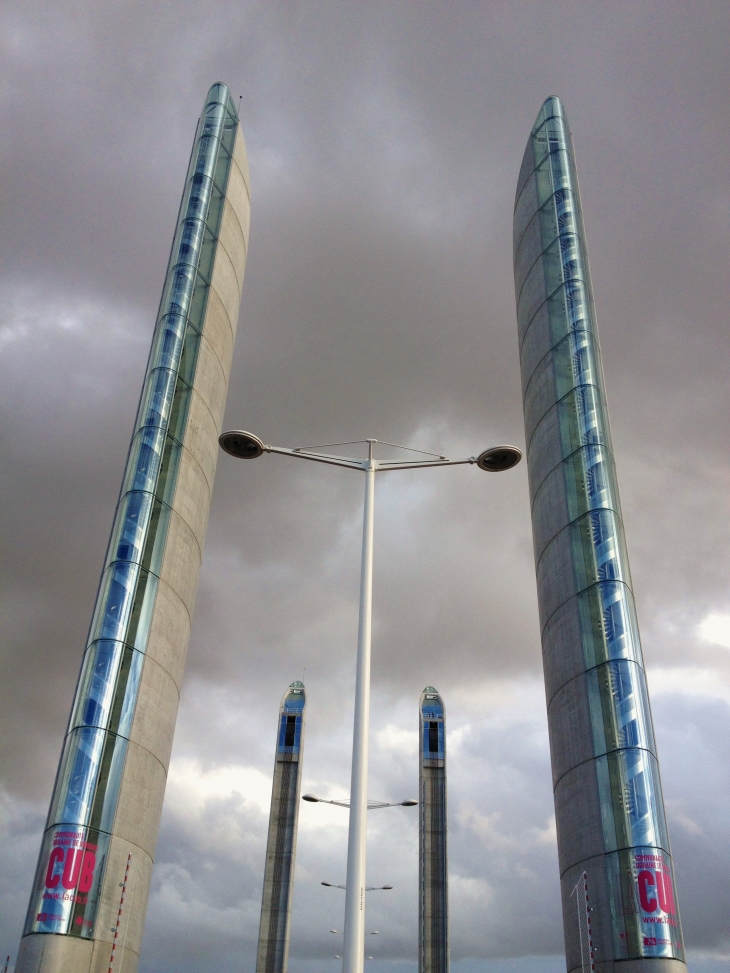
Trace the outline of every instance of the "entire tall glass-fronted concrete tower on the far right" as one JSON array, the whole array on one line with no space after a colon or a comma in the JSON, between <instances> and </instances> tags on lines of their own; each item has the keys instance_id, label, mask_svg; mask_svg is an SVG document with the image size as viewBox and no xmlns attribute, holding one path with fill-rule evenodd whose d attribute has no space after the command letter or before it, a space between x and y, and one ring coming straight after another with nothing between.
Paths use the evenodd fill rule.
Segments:
<instances>
[{"instance_id":1,"label":"entire tall glass-fronted concrete tower on the far right","mask_svg":"<svg viewBox=\"0 0 730 973\"><path fill-rule=\"evenodd\" d=\"M595 969L622 961L624 973L679 973L672 859L558 98L527 142L514 266L567 966L582 965L571 895L585 873Z\"/></svg>"}]
</instances>

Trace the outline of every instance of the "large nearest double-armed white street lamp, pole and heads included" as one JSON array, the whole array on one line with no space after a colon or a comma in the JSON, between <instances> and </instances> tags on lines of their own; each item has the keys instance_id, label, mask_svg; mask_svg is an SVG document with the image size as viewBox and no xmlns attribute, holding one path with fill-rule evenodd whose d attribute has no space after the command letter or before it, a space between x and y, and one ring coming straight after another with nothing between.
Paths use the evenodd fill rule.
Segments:
<instances>
[{"instance_id":1,"label":"large nearest double-armed white street lamp, pole and heads included","mask_svg":"<svg viewBox=\"0 0 730 973\"><path fill-rule=\"evenodd\" d=\"M344 466L365 474L365 509L363 516L362 562L360 569L360 620L357 636L357 671L355 679L355 723L352 736L352 777L350 786L350 827L347 841L347 885L345 898L345 937L343 973L363 973L365 957L365 851L367 837L367 777L368 730L370 724L370 648L373 607L373 518L375 474L389 470L413 470L431 466L458 466L469 463L488 473L500 473L516 466L522 452L516 446L493 446L478 456L450 460L438 453L411 449L397 443L383 443L428 459L409 459L392 462L375 458L377 439L362 439L348 443L325 443L321 446L302 446L285 449L268 446L251 432L241 429L224 432L218 439L221 448L238 459L256 459L263 453L279 453L295 459L312 460ZM366 459L354 459L315 450L337 446L366 445Z\"/></svg>"}]
</instances>

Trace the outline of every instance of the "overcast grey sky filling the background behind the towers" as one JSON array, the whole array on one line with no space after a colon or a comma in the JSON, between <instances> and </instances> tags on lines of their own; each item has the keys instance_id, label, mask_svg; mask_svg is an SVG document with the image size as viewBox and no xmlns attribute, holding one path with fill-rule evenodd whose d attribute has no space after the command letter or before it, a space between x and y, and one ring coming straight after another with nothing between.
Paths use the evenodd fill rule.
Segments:
<instances>
[{"instance_id":1,"label":"overcast grey sky filling the background behind the towers","mask_svg":"<svg viewBox=\"0 0 730 973\"><path fill-rule=\"evenodd\" d=\"M209 85L253 212L226 425L523 445L512 206L573 129L690 969L730 960L726 0L2 6L0 953L17 949ZM252 971L281 695L349 788L362 477L218 467L142 973ZM371 795L447 707L455 973L564 969L526 466L378 486ZM417 810L373 815L373 973L414 973ZM377 815L377 817L376 817ZM333 971L347 812L303 805L291 973ZM368 954L370 955L370 953Z\"/></svg>"}]
</instances>

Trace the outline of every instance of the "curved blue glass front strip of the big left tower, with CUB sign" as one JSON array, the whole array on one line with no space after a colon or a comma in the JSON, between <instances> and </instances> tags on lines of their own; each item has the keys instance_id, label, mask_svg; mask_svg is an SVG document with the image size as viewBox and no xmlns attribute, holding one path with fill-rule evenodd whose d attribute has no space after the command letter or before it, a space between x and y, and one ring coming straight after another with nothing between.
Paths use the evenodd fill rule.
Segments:
<instances>
[{"instance_id":1,"label":"curved blue glass front strip of the big left tower, with CUB sign","mask_svg":"<svg viewBox=\"0 0 730 973\"><path fill-rule=\"evenodd\" d=\"M228 89L214 85L185 179L24 934L94 935L237 130Z\"/></svg>"}]
</instances>

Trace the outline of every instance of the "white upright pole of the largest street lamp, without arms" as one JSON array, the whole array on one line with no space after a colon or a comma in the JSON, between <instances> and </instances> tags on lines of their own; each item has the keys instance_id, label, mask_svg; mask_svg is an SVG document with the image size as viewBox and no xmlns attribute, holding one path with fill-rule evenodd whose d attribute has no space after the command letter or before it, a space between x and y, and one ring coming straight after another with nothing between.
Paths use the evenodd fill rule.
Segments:
<instances>
[{"instance_id":1,"label":"white upright pole of the largest street lamp, without arms","mask_svg":"<svg viewBox=\"0 0 730 973\"><path fill-rule=\"evenodd\" d=\"M360 569L360 624L357 636L355 726L352 735L350 831L347 840L347 888L342 973L363 973L365 960L365 851L368 814L368 744L370 730L370 643L373 610L373 513L375 440L368 440L365 511Z\"/></svg>"}]
</instances>

